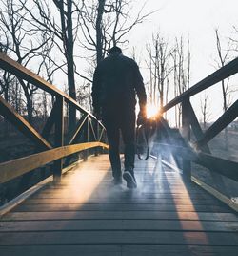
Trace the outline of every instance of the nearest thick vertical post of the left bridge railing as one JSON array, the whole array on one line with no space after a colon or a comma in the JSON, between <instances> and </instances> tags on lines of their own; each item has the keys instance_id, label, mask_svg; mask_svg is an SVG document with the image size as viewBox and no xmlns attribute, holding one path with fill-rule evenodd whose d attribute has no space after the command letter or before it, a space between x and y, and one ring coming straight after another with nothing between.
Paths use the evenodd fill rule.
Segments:
<instances>
[{"instance_id":1,"label":"nearest thick vertical post of the left bridge railing","mask_svg":"<svg viewBox=\"0 0 238 256\"><path fill-rule=\"evenodd\" d=\"M64 145L64 97L58 96L56 98L56 118L55 118L55 132L54 142L55 147L62 147ZM61 180L63 168L63 159L55 160L53 164L53 181Z\"/></svg>"}]
</instances>

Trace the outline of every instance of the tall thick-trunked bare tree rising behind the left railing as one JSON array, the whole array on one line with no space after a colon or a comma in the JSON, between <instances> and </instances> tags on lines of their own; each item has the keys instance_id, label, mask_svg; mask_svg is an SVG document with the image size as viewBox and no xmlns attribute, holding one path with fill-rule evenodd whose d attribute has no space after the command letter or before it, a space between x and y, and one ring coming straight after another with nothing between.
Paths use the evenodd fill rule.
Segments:
<instances>
[{"instance_id":1,"label":"tall thick-trunked bare tree rising behind the left railing","mask_svg":"<svg viewBox=\"0 0 238 256\"><path fill-rule=\"evenodd\" d=\"M23 4L23 0L20 0ZM53 0L50 4L46 0L32 0L34 9L30 9L29 5L24 8L31 17L31 24L52 39L54 48L50 48L54 54L59 53L63 61L60 63L51 58L51 54L47 56L50 63L50 72L52 75L56 70L60 69L67 76L67 84L69 96L76 99L76 82L75 82L75 62L74 62L74 46L79 29L79 13L81 10L80 2L73 0ZM54 11L54 13L51 13ZM40 17L40 18L39 18ZM53 49L53 50L52 50ZM57 50L56 50L57 49ZM58 57L60 59L60 57ZM53 65L52 65L53 64ZM77 75L80 75L77 73ZM83 75L81 75L83 78ZM69 129L72 129L76 121L76 110L74 107L69 108Z\"/></svg>"}]
</instances>

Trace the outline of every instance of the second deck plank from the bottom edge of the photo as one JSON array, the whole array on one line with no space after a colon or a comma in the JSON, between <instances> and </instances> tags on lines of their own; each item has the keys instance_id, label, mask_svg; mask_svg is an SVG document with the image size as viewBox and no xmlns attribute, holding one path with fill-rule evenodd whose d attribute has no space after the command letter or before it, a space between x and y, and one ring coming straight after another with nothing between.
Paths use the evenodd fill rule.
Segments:
<instances>
[{"instance_id":1,"label":"second deck plank from the bottom edge of the photo","mask_svg":"<svg viewBox=\"0 0 238 256\"><path fill-rule=\"evenodd\" d=\"M238 245L225 232L186 231L45 231L2 232L1 245Z\"/></svg>"}]
</instances>

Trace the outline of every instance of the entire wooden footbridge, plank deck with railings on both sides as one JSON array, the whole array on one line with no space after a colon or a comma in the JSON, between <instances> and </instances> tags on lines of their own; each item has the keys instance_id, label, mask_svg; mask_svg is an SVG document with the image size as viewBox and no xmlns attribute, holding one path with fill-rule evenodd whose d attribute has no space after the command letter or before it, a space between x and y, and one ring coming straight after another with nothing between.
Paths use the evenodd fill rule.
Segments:
<instances>
[{"instance_id":1,"label":"entire wooden footbridge, plank deck with railings on both sides","mask_svg":"<svg viewBox=\"0 0 238 256\"><path fill-rule=\"evenodd\" d=\"M158 120L164 137L157 158L136 160L135 190L112 185L108 156L100 149L108 147L105 129L95 117L2 53L0 68L56 98L39 133L0 97L0 115L35 144L35 154L0 163L0 182L53 162L52 179L1 208L1 255L237 255L237 204L193 177L191 163L238 181L238 163L214 157L208 147L208 141L238 116L238 100L203 133L189 98L237 73L238 59L164 107L166 112L182 104L183 137L174 138L163 117ZM64 102L81 113L67 135ZM191 131L193 147L188 144ZM83 152L83 160L70 165L70 156L78 152ZM179 166L169 162L168 156Z\"/></svg>"}]
</instances>

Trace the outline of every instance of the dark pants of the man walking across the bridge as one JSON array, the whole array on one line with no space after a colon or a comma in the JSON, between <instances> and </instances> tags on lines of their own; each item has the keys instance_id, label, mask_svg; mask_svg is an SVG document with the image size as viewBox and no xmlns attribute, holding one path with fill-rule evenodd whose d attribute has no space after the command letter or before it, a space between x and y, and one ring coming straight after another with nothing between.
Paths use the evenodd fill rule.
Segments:
<instances>
[{"instance_id":1,"label":"dark pants of the man walking across the bridge","mask_svg":"<svg viewBox=\"0 0 238 256\"><path fill-rule=\"evenodd\" d=\"M135 110L127 106L105 106L102 108L103 123L109 140L109 160L114 178L121 174L120 131L125 144L125 169L132 171L135 156Z\"/></svg>"}]
</instances>

